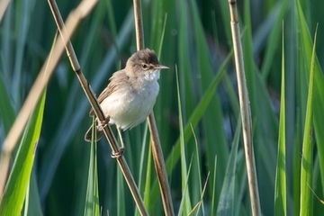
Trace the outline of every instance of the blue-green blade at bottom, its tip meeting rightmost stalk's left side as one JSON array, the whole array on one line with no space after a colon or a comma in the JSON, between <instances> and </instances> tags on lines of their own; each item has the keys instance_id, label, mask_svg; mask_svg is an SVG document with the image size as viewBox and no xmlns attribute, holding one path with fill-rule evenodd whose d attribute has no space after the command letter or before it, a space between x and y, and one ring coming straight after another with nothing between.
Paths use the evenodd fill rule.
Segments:
<instances>
[{"instance_id":1,"label":"blue-green blade at bottom, its tip meeting rightmost stalk's left side","mask_svg":"<svg viewBox=\"0 0 324 216\"><path fill-rule=\"evenodd\" d=\"M241 121L238 119L233 145L229 154L229 162L226 167L224 182L221 187L220 201L218 203L217 215L234 215L235 209L235 179L237 172L238 143L241 132Z\"/></svg>"}]
</instances>

